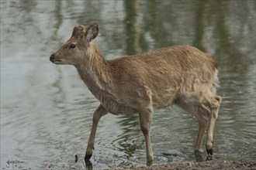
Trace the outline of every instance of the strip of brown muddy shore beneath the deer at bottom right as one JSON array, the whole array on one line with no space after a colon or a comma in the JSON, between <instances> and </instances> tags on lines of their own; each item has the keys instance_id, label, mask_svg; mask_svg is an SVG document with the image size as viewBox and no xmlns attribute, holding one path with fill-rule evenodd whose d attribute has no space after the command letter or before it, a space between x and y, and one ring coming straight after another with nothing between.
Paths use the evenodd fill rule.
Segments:
<instances>
[{"instance_id":1,"label":"strip of brown muddy shore beneath the deer at bottom right","mask_svg":"<svg viewBox=\"0 0 256 170\"><path fill-rule=\"evenodd\" d=\"M130 167L134 170L167 170L167 169L256 169L256 160L221 160L207 162L180 162L150 167Z\"/></svg>"}]
</instances>

